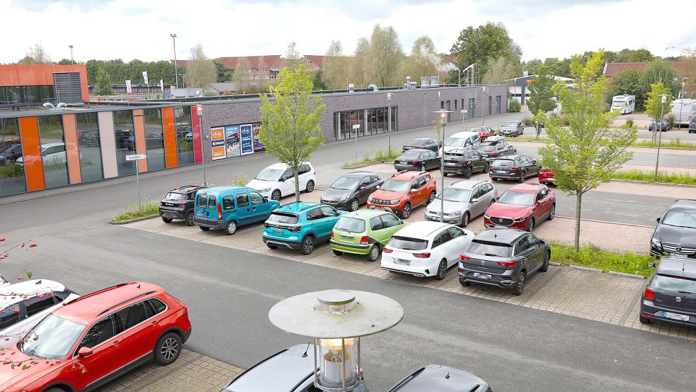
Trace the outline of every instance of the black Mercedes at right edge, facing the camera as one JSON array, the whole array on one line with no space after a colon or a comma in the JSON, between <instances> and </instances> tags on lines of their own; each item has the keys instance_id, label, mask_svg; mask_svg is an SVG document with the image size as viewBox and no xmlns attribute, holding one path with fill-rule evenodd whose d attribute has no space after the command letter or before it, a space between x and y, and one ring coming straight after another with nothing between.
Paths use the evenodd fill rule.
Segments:
<instances>
[{"instance_id":1,"label":"black Mercedes at right edge, facing the camera","mask_svg":"<svg viewBox=\"0 0 696 392\"><path fill-rule=\"evenodd\" d=\"M650 241L653 256L668 254L696 259L696 200L675 201L657 222Z\"/></svg>"}]
</instances>

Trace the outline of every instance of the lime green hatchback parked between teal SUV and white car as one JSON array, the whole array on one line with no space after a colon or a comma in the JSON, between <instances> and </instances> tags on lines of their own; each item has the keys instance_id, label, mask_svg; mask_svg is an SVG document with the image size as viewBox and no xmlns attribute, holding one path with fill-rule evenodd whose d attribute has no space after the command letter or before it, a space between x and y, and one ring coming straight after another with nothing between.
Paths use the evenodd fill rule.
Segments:
<instances>
[{"instance_id":1,"label":"lime green hatchback parked between teal SUV and white car","mask_svg":"<svg viewBox=\"0 0 696 392\"><path fill-rule=\"evenodd\" d=\"M392 235L407 224L388 211L353 211L343 215L333 226L331 250L336 256L343 253L367 254L370 262L374 262Z\"/></svg>"}]
</instances>

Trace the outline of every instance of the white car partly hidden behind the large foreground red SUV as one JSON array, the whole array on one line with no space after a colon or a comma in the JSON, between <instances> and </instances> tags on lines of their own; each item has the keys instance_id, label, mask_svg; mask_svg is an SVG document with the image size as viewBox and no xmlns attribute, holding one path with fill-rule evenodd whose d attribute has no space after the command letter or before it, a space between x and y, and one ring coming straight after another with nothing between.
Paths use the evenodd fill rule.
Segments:
<instances>
[{"instance_id":1,"label":"white car partly hidden behind the large foreground red SUV","mask_svg":"<svg viewBox=\"0 0 696 392\"><path fill-rule=\"evenodd\" d=\"M9 347L51 313L61 303L79 298L79 294L56 281L35 279L3 286L0 289L0 336Z\"/></svg>"}]
</instances>

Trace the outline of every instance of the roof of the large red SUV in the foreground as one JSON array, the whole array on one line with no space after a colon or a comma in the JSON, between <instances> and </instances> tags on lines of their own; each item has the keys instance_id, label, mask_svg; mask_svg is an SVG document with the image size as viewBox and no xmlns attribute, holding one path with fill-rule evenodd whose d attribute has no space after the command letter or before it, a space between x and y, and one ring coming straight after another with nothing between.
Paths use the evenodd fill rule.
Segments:
<instances>
[{"instance_id":1,"label":"roof of the large red SUV in the foreground","mask_svg":"<svg viewBox=\"0 0 696 392\"><path fill-rule=\"evenodd\" d=\"M53 314L75 323L90 324L111 308L152 293L164 293L164 289L156 284L140 281L118 284L64 303Z\"/></svg>"}]
</instances>

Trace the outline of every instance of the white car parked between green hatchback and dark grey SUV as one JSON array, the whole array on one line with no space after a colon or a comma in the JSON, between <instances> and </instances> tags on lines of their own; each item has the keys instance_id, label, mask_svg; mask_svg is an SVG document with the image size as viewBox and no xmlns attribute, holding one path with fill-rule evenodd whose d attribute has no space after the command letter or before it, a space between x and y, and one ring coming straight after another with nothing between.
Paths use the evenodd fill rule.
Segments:
<instances>
[{"instance_id":1,"label":"white car parked between green hatchback and dark grey SUV","mask_svg":"<svg viewBox=\"0 0 696 392\"><path fill-rule=\"evenodd\" d=\"M415 222L394 233L382 249L382 269L445 279L447 269L474 239L474 232L440 222Z\"/></svg>"}]
</instances>

